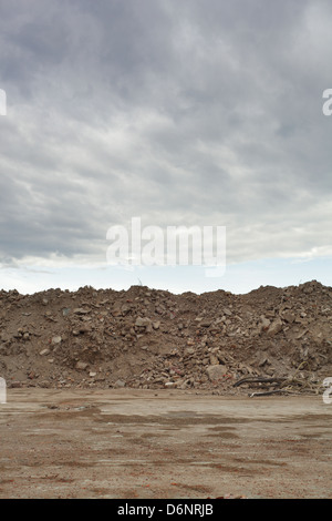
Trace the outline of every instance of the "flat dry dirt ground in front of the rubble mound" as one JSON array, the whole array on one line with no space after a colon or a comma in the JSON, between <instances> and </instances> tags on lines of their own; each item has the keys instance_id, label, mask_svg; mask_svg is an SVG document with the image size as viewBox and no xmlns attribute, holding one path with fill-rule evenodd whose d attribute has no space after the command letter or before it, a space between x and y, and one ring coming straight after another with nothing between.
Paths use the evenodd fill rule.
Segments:
<instances>
[{"instance_id":1,"label":"flat dry dirt ground in front of the rubble mound","mask_svg":"<svg viewBox=\"0 0 332 521\"><path fill-rule=\"evenodd\" d=\"M332 499L322 396L8 389L0 498Z\"/></svg>"}]
</instances>

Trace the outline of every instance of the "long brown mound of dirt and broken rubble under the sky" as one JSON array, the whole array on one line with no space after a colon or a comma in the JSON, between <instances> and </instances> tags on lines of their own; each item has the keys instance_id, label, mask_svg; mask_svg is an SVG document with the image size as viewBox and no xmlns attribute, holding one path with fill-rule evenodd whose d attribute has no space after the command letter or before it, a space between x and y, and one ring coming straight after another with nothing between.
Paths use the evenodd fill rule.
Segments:
<instances>
[{"instance_id":1,"label":"long brown mound of dirt and broken rubble under the sky","mask_svg":"<svg viewBox=\"0 0 332 521\"><path fill-rule=\"evenodd\" d=\"M331 326L332 288L315 280L246 295L2 290L0 376L8 387L220 394L240 392L243 378L292 378L312 390L332 376Z\"/></svg>"}]
</instances>

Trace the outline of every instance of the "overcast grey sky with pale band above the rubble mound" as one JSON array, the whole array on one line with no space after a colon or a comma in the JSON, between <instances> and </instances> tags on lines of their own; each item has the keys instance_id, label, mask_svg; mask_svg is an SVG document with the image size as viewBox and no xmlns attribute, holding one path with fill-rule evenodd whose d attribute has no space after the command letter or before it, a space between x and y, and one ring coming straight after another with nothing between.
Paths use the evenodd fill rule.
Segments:
<instances>
[{"instance_id":1,"label":"overcast grey sky with pale band above the rubble mound","mask_svg":"<svg viewBox=\"0 0 332 521\"><path fill-rule=\"evenodd\" d=\"M0 288L332 286L331 22L330 0L0 0ZM133 217L226 227L225 269L111 264Z\"/></svg>"}]
</instances>

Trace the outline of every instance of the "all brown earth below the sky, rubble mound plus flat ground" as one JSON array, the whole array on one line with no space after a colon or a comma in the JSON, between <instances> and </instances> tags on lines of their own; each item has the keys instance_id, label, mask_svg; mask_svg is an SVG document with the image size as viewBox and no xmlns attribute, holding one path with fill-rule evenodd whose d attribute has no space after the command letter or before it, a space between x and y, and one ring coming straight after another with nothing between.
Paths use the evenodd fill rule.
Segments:
<instances>
[{"instance_id":1,"label":"all brown earth below the sky, rubble mound plus flat ground","mask_svg":"<svg viewBox=\"0 0 332 521\"><path fill-rule=\"evenodd\" d=\"M0 498L332 498L317 280L2 290L0 378Z\"/></svg>"}]
</instances>

